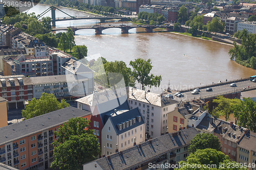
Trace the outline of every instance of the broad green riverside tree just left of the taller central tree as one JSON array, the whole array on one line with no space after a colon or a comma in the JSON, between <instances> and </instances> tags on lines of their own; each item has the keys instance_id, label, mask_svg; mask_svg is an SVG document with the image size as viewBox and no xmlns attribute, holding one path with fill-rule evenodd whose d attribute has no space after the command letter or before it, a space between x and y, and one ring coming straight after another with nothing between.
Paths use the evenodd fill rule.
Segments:
<instances>
[{"instance_id":1,"label":"broad green riverside tree just left of the taller central tree","mask_svg":"<svg viewBox=\"0 0 256 170\"><path fill-rule=\"evenodd\" d=\"M111 61L111 62L106 62L104 64L104 68L106 71L106 74L108 76L108 80L114 84L117 84L118 82L120 82L120 79L122 77L119 77L117 74L116 77L114 77L113 75L111 75L111 77L108 75L108 72L117 72L120 73L123 76L124 82L125 82L125 86L135 86L135 79L131 76L132 75L132 69L127 67L125 62L123 61ZM112 79L111 79L112 78ZM114 79L114 80L113 80ZM112 86L112 84L109 84L110 86Z\"/></svg>"}]
</instances>

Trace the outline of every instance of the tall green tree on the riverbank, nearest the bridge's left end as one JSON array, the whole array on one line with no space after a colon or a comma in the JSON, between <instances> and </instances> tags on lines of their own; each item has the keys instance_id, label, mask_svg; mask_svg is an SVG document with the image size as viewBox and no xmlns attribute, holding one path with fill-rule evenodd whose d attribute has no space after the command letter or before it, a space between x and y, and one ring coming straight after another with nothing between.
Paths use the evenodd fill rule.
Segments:
<instances>
[{"instance_id":1,"label":"tall green tree on the riverbank, nearest the bridge's left end","mask_svg":"<svg viewBox=\"0 0 256 170\"><path fill-rule=\"evenodd\" d=\"M130 65L133 67L132 76L141 83L142 89L144 86L160 86L162 76L149 75L153 67L151 59L138 58L135 61L130 61Z\"/></svg>"}]
</instances>

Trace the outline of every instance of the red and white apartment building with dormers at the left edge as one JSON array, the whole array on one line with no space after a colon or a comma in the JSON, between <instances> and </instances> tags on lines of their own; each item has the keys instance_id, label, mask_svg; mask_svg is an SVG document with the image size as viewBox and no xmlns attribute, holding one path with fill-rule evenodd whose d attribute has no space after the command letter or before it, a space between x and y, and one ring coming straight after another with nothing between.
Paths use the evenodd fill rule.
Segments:
<instances>
[{"instance_id":1,"label":"red and white apartment building with dormers at the left edge","mask_svg":"<svg viewBox=\"0 0 256 170\"><path fill-rule=\"evenodd\" d=\"M0 96L8 100L8 110L24 106L25 101L32 100L33 89L29 78L23 75L1 76L0 82Z\"/></svg>"}]
</instances>

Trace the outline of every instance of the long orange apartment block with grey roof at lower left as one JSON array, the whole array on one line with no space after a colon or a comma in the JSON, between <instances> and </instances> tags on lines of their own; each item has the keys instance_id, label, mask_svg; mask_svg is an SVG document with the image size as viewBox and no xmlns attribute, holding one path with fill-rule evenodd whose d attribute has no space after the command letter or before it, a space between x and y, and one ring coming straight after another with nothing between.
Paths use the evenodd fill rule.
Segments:
<instances>
[{"instance_id":1,"label":"long orange apartment block with grey roof at lower left","mask_svg":"<svg viewBox=\"0 0 256 170\"><path fill-rule=\"evenodd\" d=\"M47 169L53 161L53 134L70 118L91 112L67 107L0 128L0 162L18 169Z\"/></svg>"}]
</instances>

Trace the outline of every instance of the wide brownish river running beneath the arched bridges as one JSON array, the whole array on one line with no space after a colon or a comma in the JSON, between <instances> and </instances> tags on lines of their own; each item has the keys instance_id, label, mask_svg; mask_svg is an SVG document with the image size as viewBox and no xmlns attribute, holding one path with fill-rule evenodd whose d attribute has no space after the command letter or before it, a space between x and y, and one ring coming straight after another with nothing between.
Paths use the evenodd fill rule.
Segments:
<instances>
[{"instance_id":1,"label":"wide brownish river running beneath the arched bridges","mask_svg":"<svg viewBox=\"0 0 256 170\"><path fill-rule=\"evenodd\" d=\"M49 5L37 5L29 10L36 15L49 8ZM88 16L81 12L60 8L71 16ZM47 13L51 15L50 12ZM56 11L56 17L67 17ZM93 26L99 20L58 21L56 27ZM120 25L122 22L102 23L103 25ZM125 25L133 23L123 22ZM75 36L77 45L86 45L88 54L100 54L108 61L122 60L127 65L136 58L151 59L152 73L162 75L160 92L172 89L200 86L221 81L240 79L256 75L256 70L246 68L229 59L230 45L201 40L169 32L145 33L144 29L129 30L129 34L121 34L118 28L106 29L102 35L95 35L93 29L78 30ZM254 94L253 94L254 95ZM244 95L247 96L247 95ZM256 96L256 95L255 95Z\"/></svg>"}]
</instances>

